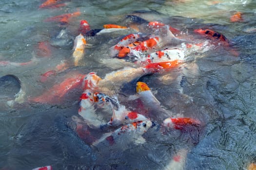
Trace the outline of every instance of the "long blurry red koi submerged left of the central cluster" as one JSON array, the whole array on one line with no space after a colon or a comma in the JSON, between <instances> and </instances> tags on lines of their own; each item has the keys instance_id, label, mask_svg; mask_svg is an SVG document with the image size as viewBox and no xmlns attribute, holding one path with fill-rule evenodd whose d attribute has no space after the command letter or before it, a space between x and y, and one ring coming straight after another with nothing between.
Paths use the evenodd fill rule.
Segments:
<instances>
[{"instance_id":1,"label":"long blurry red koi submerged left of the central cluster","mask_svg":"<svg viewBox=\"0 0 256 170\"><path fill-rule=\"evenodd\" d=\"M41 102L41 103L58 103L63 97L74 88L81 88L84 75L76 74L73 77L66 78L63 82L57 85L53 85L49 90L42 95L29 98L29 102Z\"/></svg>"}]
</instances>

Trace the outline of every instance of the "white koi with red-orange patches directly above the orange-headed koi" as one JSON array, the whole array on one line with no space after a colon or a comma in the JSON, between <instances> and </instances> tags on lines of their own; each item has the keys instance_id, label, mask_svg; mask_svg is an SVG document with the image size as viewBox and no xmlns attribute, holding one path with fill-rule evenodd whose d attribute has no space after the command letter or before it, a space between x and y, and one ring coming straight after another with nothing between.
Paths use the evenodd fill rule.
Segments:
<instances>
[{"instance_id":1,"label":"white koi with red-orange patches directly above the orange-headed koi","mask_svg":"<svg viewBox=\"0 0 256 170\"><path fill-rule=\"evenodd\" d=\"M118 42L118 44L110 48L111 56L116 56L120 50L122 50L125 46L128 46L131 43L134 43L139 37L140 37L140 34L128 34L125 37L123 37Z\"/></svg>"}]
</instances>

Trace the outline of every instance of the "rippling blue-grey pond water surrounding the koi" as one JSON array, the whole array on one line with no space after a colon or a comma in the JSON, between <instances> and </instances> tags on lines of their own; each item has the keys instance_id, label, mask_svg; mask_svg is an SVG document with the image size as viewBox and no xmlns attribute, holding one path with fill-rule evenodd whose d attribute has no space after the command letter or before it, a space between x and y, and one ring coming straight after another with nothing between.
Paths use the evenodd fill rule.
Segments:
<instances>
[{"instance_id":1,"label":"rippling blue-grey pond water surrounding the koi","mask_svg":"<svg viewBox=\"0 0 256 170\"><path fill-rule=\"evenodd\" d=\"M0 170L32 170L47 165L53 170L164 170L180 149L188 152L185 170L242 170L256 161L255 1L63 0L65 6L39 8L43 2L0 1L0 77L16 76L9 77L12 85L0 79ZM68 24L44 21L76 11L81 14L72 17ZM236 12L242 13L243 20L231 22L230 17ZM74 124L71 117L79 116L81 90L69 92L57 104L26 100L67 77L94 71L103 78L106 73L123 68L112 65L112 60L102 60L112 58L109 48L127 32L86 37L91 46L86 47L77 67L72 65L71 56L80 20L86 19L91 29L102 29L104 24L125 25L127 15L170 24L184 36L192 34L199 39L205 37L193 30L209 28L225 35L232 47L217 45L200 54L195 52L184 68L125 82L118 89L120 102L136 109L139 104L127 98L136 93L136 81L145 82L166 109L200 120L201 127L185 132L171 130L165 135L151 128L143 135L146 143L142 145L124 146L124 151L106 148L99 152L79 138L70 125ZM57 39L63 29L65 37ZM48 43L49 56L40 54L40 42ZM31 59L35 60L32 64L14 64ZM1 65L2 61L9 64ZM63 61L69 63L69 68L40 82L43 73ZM173 78L177 74L182 75L182 83ZM25 101L10 106L7 101L13 100L20 88L16 78ZM155 121L161 123L166 117L157 118Z\"/></svg>"}]
</instances>

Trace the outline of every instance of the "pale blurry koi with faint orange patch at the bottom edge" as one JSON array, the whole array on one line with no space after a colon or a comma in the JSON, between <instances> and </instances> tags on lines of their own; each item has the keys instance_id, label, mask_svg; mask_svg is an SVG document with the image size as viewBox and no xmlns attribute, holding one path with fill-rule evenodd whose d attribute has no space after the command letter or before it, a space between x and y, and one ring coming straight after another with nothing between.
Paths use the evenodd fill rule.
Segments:
<instances>
[{"instance_id":1,"label":"pale blurry koi with faint orange patch at the bottom edge","mask_svg":"<svg viewBox=\"0 0 256 170\"><path fill-rule=\"evenodd\" d=\"M164 170L184 170L187 150L179 150L172 158L170 163L164 168Z\"/></svg>"}]
</instances>

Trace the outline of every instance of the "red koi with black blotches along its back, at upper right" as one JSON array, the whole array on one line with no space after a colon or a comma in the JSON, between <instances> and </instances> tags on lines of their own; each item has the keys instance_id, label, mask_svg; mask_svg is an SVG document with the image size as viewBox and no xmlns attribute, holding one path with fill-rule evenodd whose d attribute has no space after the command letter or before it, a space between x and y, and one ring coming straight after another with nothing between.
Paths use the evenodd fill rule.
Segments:
<instances>
[{"instance_id":1,"label":"red koi with black blotches along its back, at upper right","mask_svg":"<svg viewBox=\"0 0 256 170\"><path fill-rule=\"evenodd\" d=\"M213 30L206 29L206 28L200 28L200 29L194 30L194 32L198 33L198 34L201 34L201 35L205 35L205 36L209 37L212 40L217 40L220 43L222 43L223 45L225 45L226 47L229 46L228 39L224 35L219 34L219 33L215 32Z\"/></svg>"}]
</instances>

